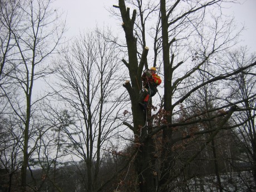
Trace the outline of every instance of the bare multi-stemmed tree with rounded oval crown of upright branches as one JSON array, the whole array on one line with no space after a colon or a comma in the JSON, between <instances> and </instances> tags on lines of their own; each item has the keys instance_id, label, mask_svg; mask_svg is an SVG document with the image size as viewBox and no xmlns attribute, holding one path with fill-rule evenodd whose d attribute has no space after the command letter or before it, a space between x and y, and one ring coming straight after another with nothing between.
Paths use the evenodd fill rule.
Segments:
<instances>
[{"instance_id":1,"label":"bare multi-stemmed tree with rounded oval crown of upright branches","mask_svg":"<svg viewBox=\"0 0 256 192\"><path fill-rule=\"evenodd\" d=\"M125 110L125 93L120 90L124 70L118 64L115 43L107 41L110 35L106 29L81 34L63 52L58 71L58 96L75 116L65 132L73 156L85 165L80 171L87 191L99 191L105 185L99 180L102 156L122 130L119 119Z\"/></svg>"}]
</instances>

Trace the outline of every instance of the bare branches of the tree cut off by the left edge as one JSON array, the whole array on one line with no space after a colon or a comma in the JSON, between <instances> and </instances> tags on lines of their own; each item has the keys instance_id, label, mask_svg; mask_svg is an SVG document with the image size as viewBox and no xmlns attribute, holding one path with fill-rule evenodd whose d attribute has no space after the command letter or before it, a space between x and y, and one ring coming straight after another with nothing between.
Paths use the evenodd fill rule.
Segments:
<instances>
[{"instance_id":1,"label":"bare branches of the tree cut off by the left edge","mask_svg":"<svg viewBox=\"0 0 256 192\"><path fill-rule=\"evenodd\" d=\"M17 24L21 21L19 12L21 11L21 1L4 0L0 2L0 113L7 114L7 102L6 97L11 97L13 87L12 78L9 75L13 75L14 68L16 67L13 54L14 37L12 35L12 28L16 28ZM11 86L12 85L12 86ZM5 118L5 116L3 116ZM9 117L7 116L7 119Z\"/></svg>"}]
</instances>

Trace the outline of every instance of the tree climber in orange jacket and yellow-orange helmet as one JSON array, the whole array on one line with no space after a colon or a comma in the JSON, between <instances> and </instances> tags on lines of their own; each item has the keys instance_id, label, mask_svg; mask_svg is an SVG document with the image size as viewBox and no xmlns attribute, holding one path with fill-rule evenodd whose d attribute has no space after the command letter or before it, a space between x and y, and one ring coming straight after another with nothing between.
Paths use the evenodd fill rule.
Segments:
<instances>
[{"instance_id":1,"label":"tree climber in orange jacket and yellow-orange helmet","mask_svg":"<svg viewBox=\"0 0 256 192\"><path fill-rule=\"evenodd\" d=\"M139 102L142 109L147 109L147 104L149 102L150 97L154 96L157 92L157 86L160 85L161 78L156 74L156 68L151 67L150 72L149 70L144 70L142 76L143 87L147 91L147 95L144 98L143 102Z\"/></svg>"}]
</instances>

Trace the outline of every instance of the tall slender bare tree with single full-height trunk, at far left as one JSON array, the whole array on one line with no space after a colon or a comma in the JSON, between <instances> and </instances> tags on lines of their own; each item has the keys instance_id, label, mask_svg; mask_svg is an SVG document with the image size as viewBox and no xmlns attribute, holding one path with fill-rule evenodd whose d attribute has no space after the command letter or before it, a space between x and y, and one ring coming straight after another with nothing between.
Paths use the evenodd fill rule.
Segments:
<instances>
[{"instance_id":1,"label":"tall slender bare tree with single full-height trunk, at far left","mask_svg":"<svg viewBox=\"0 0 256 192\"><path fill-rule=\"evenodd\" d=\"M38 115L35 113L36 104L43 99L43 97L33 97L33 87L36 80L43 79L53 72L46 63L49 62L49 56L56 50L63 35L64 24L58 12L51 9L51 2L51 0L11 1L11 4L8 4L7 1L1 1L7 3L8 8L13 11L6 13L4 17L7 23L4 27L8 36L7 46L3 52L3 54L8 53L13 59L4 58L1 67L15 66L13 73L5 73L12 86L3 89L3 92L7 95L9 106L9 111L5 112L13 114L15 119L19 120L17 129L23 131L20 139L23 152L21 169L23 191L26 191L28 161L35 150L33 147L35 145L30 139L36 136L36 131L33 130L37 127L34 118ZM9 41L10 36L12 41ZM12 43L8 44L8 42Z\"/></svg>"}]
</instances>

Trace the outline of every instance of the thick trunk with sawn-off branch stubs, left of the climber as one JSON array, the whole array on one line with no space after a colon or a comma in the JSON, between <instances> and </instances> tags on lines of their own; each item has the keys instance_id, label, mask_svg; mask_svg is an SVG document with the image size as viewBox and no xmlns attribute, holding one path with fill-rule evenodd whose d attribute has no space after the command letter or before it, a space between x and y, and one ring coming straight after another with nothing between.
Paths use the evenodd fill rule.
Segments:
<instances>
[{"instance_id":1,"label":"thick trunk with sawn-off branch stubs, left of the climber","mask_svg":"<svg viewBox=\"0 0 256 192\"><path fill-rule=\"evenodd\" d=\"M137 60L137 40L134 37L134 22L136 11L132 13L132 18L130 19L130 8L126 8L125 1L119 0L119 8L122 17L122 27L125 32L127 51L129 63L123 60L127 69L129 70L130 82L126 82L124 87L130 95L131 100L131 110L132 110L132 119L133 127L131 128L134 131L135 135L135 146L137 148L135 156L135 169L137 172L137 186L140 192L150 192L156 191L155 185L155 176L154 176L154 159L152 159L152 152L155 151L154 142L151 137L144 139L147 135L146 127L146 118L145 114L139 106L140 102L140 90L142 88L141 83L141 72L143 69L144 62L142 61L139 65ZM148 51L148 49L147 49ZM147 55L144 54L144 57ZM143 53L142 53L143 55ZM141 58L142 60L143 58ZM143 140L143 141L142 141Z\"/></svg>"}]
</instances>

